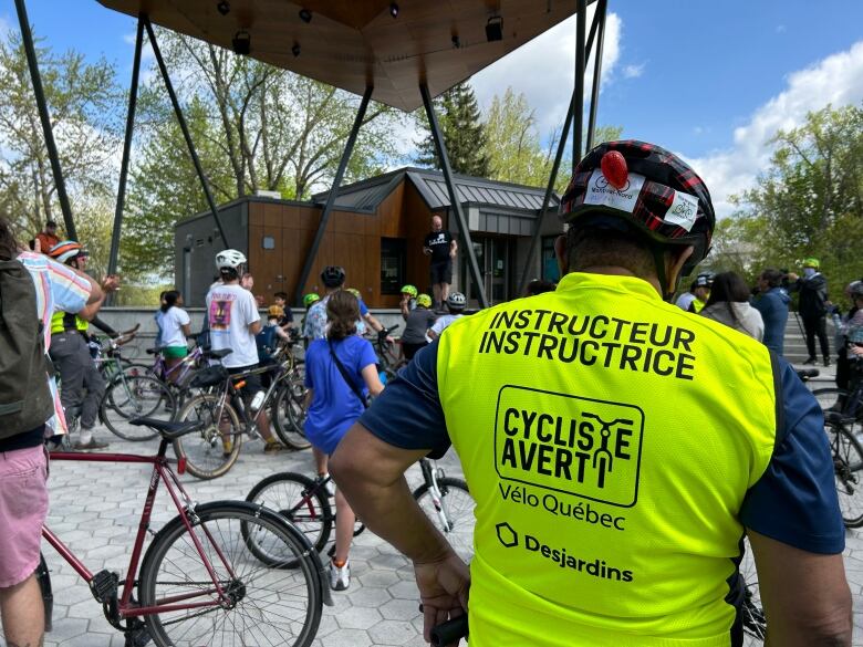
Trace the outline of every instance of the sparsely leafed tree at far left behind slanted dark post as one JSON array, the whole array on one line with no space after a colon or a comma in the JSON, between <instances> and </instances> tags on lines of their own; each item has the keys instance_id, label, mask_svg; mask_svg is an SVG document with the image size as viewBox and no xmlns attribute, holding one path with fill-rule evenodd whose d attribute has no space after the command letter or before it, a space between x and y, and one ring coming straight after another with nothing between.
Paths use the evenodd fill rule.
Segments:
<instances>
[{"instance_id":1,"label":"sparsely leafed tree at far left behind slanted dark post","mask_svg":"<svg viewBox=\"0 0 863 647\"><path fill-rule=\"evenodd\" d=\"M55 54L41 43L37 39L37 58L66 190L79 237L98 273L107 261L122 92L112 64L86 63L75 51ZM0 205L24 239L45 220L62 225L27 58L14 30L0 41Z\"/></svg>"}]
</instances>

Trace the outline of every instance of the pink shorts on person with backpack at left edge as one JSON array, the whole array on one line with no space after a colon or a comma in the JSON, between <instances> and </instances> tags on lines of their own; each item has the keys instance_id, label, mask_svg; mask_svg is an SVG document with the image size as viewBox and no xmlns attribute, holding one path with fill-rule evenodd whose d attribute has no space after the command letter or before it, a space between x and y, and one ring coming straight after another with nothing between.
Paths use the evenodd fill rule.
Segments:
<instances>
[{"instance_id":1,"label":"pink shorts on person with backpack at left edge","mask_svg":"<svg viewBox=\"0 0 863 647\"><path fill-rule=\"evenodd\" d=\"M21 584L39 565L46 481L44 447L0 452L0 588Z\"/></svg>"}]
</instances>

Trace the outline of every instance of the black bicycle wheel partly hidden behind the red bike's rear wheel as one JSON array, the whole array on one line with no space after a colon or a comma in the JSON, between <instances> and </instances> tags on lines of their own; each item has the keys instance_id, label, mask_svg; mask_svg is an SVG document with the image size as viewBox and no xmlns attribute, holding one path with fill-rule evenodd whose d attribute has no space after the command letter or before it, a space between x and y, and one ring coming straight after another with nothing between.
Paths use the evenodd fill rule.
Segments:
<instances>
[{"instance_id":1,"label":"black bicycle wheel partly hidden behind the red bike's rear wheel","mask_svg":"<svg viewBox=\"0 0 863 647\"><path fill-rule=\"evenodd\" d=\"M297 472L279 472L258 482L246 497L246 501L269 508L282 515L289 523L305 535L319 553L330 540L335 516L324 488L306 476ZM251 540L243 533L247 542ZM249 550L256 557L264 561L254 543Z\"/></svg>"}]
</instances>

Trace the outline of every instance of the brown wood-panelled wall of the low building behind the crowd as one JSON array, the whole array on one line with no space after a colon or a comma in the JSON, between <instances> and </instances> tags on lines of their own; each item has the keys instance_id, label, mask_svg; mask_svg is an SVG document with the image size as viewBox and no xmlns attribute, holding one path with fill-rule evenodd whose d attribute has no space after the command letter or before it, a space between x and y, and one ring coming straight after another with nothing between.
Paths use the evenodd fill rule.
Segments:
<instances>
[{"instance_id":1,"label":"brown wood-panelled wall of the low building behind the crowd","mask_svg":"<svg viewBox=\"0 0 863 647\"><path fill-rule=\"evenodd\" d=\"M293 300L322 211L322 207L311 205L249 204L249 268L254 275L254 293L263 295L268 304L280 291ZM376 213L334 210L303 293L323 292L321 270L342 265L347 273L346 285L360 290L370 307L396 307L398 295L381 294L382 238L405 239L406 282L420 292L429 289L428 259L422 248L432 229L430 218L432 212L409 181L396 187ZM262 248L264 236L275 239L275 249Z\"/></svg>"}]
</instances>

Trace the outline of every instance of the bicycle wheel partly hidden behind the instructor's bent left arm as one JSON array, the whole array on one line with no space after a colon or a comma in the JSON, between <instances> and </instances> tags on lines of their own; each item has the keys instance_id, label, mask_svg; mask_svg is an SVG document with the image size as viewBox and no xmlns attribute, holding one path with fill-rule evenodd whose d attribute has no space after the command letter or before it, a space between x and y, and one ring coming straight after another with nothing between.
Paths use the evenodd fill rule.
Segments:
<instances>
[{"instance_id":1,"label":"bicycle wheel partly hidden behind the instructor's bent left arm","mask_svg":"<svg viewBox=\"0 0 863 647\"><path fill-rule=\"evenodd\" d=\"M469 562L474 556L474 525L476 523L474 509L476 501L470 495L467 483L461 479L444 477L437 479L437 486L440 489L443 512L447 516L448 528L445 528L440 520L429 483L423 483L414 490L414 499L435 524L435 528L444 533L456 553Z\"/></svg>"}]
</instances>

